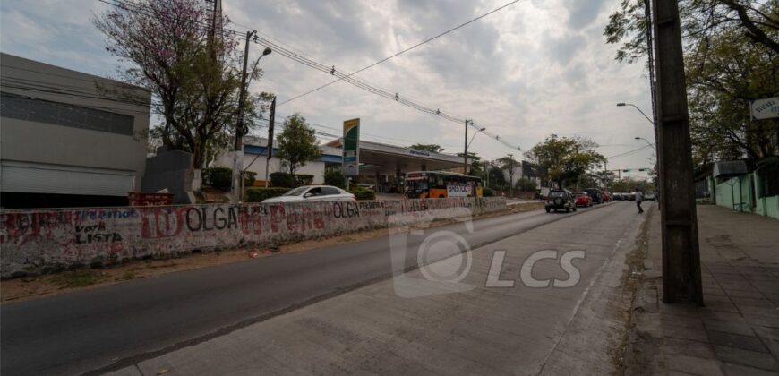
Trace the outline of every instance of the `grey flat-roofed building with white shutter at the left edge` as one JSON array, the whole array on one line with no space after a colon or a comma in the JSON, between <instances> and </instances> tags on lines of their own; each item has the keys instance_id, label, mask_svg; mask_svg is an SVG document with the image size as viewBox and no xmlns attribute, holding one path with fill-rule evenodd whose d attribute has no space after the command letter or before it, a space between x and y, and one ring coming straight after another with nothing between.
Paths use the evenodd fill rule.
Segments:
<instances>
[{"instance_id":1,"label":"grey flat-roofed building with white shutter at the left edge","mask_svg":"<svg viewBox=\"0 0 779 376\"><path fill-rule=\"evenodd\" d=\"M0 55L0 205L126 205L141 190L151 94Z\"/></svg>"}]
</instances>

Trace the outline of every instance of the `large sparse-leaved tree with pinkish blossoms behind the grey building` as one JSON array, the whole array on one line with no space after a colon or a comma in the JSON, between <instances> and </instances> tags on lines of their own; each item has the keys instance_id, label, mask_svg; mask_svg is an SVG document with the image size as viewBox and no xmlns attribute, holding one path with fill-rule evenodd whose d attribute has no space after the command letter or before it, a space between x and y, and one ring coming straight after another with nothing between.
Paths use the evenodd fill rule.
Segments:
<instances>
[{"instance_id":1,"label":"large sparse-leaved tree with pinkish blossoms behind the grey building","mask_svg":"<svg viewBox=\"0 0 779 376\"><path fill-rule=\"evenodd\" d=\"M227 17L212 18L200 0L138 0L92 22L106 36L107 51L133 64L121 79L152 92L152 111L164 124L150 138L193 153L195 168L231 143L235 130L227 124L235 124L242 56L235 39L217 38L204 26L227 25ZM263 109L260 98L246 101L249 127Z\"/></svg>"}]
</instances>

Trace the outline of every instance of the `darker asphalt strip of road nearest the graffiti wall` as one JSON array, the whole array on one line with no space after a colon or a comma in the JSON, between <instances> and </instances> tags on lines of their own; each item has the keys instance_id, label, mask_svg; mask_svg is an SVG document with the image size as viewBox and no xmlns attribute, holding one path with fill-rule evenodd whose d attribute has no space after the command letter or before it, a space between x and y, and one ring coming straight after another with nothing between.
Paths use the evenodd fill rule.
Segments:
<instances>
[{"instance_id":1,"label":"darker asphalt strip of road nearest the graffiti wall","mask_svg":"<svg viewBox=\"0 0 779 376\"><path fill-rule=\"evenodd\" d=\"M438 229L462 235L475 248L589 210L609 209L486 218L473 223L473 232L459 223ZM406 268L415 266L416 249L424 238L409 236ZM4 303L0 305L0 372L81 374L137 363L389 277L391 252L390 241L383 236ZM444 256L433 254L431 260Z\"/></svg>"}]
</instances>

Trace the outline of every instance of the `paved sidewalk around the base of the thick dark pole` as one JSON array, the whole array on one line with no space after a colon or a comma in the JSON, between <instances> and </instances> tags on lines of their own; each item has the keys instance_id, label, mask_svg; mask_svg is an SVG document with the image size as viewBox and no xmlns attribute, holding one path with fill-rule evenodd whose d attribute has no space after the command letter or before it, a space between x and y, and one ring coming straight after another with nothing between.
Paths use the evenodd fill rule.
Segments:
<instances>
[{"instance_id":1,"label":"paved sidewalk around the base of the thick dark pole","mask_svg":"<svg viewBox=\"0 0 779 376\"><path fill-rule=\"evenodd\" d=\"M704 307L664 304L653 207L628 374L779 374L779 221L698 205Z\"/></svg>"}]
</instances>

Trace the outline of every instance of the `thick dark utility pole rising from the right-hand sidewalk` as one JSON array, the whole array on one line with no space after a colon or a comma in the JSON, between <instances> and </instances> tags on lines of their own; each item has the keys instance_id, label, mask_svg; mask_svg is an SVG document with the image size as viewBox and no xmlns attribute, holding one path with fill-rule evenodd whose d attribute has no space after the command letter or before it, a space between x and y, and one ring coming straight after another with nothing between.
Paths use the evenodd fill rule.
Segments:
<instances>
[{"instance_id":1,"label":"thick dark utility pole rising from the right-hand sidewalk","mask_svg":"<svg viewBox=\"0 0 779 376\"><path fill-rule=\"evenodd\" d=\"M703 304L698 218L677 0L655 0L657 159L663 230L663 302Z\"/></svg>"}]
</instances>

